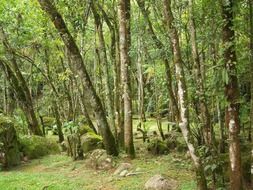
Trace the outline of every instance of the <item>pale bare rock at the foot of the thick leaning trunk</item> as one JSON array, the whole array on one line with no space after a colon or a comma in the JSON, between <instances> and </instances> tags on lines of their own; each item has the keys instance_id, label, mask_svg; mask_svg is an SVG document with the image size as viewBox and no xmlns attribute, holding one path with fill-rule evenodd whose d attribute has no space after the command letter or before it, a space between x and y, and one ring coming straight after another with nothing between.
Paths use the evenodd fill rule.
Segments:
<instances>
[{"instance_id":1,"label":"pale bare rock at the foot of the thick leaning trunk","mask_svg":"<svg viewBox=\"0 0 253 190\"><path fill-rule=\"evenodd\" d=\"M96 149L88 156L86 165L93 169L109 170L114 167L114 161L112 156L107 155L104 149Z\"/></svg>"}]
</instances>

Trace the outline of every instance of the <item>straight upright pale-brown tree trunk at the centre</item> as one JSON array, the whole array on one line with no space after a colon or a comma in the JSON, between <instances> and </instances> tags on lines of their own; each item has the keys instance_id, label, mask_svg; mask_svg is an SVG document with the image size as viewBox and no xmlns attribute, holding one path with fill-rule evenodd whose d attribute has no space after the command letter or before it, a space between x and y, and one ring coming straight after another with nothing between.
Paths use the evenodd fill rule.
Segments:
<instances>
[{"instance_id":1,"label":"straight upright pale-brown tree trunk at the centre","mask_svg":"<svg viewBox=\"0 0 253 190\"><path fill-rule=\"evenodd\" d=\"M130 0L119 2L119 37L120 37L120 60L121 77L123 85L124 100L124 128L125 128L125 150L129 157L135 157L133 143L133 121L132 121L132 97L130 79Z\"/></svg>"}]
</instances>

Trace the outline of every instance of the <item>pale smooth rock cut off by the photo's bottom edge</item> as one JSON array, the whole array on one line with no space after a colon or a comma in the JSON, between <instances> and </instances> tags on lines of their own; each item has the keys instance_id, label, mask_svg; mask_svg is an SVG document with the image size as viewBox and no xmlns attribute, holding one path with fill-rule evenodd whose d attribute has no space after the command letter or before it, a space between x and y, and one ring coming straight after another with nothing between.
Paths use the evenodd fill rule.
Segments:
<instances>
[{"instance_id":1,"label":"pale smooth rock cut off by the photo's bottom edge","mask_svg":"<svg viewBox=\"0 0 253 190\"><path fill-rule=\"evenodd\" d=\"M145 190L175 190L177 182L162 175L155 175L145 183Z\"/></svg>"}]
</instances>

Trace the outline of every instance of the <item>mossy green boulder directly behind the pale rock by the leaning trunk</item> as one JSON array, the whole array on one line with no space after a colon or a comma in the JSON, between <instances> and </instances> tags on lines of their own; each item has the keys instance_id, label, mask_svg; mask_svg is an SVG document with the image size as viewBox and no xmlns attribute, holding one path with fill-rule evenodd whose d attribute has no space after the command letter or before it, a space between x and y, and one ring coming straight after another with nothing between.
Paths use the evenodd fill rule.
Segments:
<instances>
[{"instance_id":1,"label":"mossy green boulder directly behind the pale rock by the leaning trunk","mask_svg":"<svg viewBox=\"0 0 253 190\"><path fill-rule=\"evenodd\" d=\"M103 148L102 137L93 132L87 132L81 136L81 148L83 153L87 153L94 149Z\"/></svg>"}]
</instances>

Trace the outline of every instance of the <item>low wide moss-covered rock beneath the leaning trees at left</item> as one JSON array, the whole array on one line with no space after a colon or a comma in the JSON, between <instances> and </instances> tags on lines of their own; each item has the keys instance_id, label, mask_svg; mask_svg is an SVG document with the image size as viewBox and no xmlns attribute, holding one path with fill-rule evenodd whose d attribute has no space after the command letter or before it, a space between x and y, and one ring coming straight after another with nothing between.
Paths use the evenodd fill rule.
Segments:
<instances>
[{"instance_id":1,"label":"low wide moss-covered rock beneath the leaning trees at left","mask_svg":"<svg viewBox=\"0 0 253 190\"><path fill-rule=\"evenodd\" d=\"M60 152L60 147L52 139L40 136L20 137L20 151L29 159L39 158L48 154Z\"/></svg>"}]
</instances>

